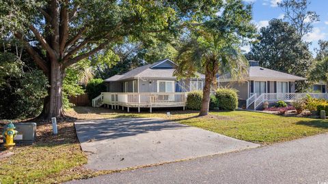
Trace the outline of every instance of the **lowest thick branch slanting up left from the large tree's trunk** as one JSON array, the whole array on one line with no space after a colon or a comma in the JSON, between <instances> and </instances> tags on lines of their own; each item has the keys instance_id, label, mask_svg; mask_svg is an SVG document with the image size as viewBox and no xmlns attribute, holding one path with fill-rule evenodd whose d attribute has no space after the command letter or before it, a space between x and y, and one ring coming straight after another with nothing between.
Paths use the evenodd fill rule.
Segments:
<instances>
[{"instance_id":1,"label":"lowest thick branch slanting up left from the large tree's trunk","mask_svg":"<svg viewBox=\"0 0 328 184\"><path fill-rule=\"evenodd\" d=\"M25 38L23 37L23 35L21 33L14 33L14 35L15 35L15 37L18 38L18 40L23 42L23 44L26 47L27 52L33 58L33 60L36 61L36 64L41 68L41 70L44 72L44 74L46 74L46 76L49 76L49 67L48 67L48 65L46 65L46 62L44 61L44 59L42 59L42 57L40 57L38 52L36 52L36 50L34 50L34 48L29 44L29 42L27 42L25 40Z\"/></svg>"}]
</instances>

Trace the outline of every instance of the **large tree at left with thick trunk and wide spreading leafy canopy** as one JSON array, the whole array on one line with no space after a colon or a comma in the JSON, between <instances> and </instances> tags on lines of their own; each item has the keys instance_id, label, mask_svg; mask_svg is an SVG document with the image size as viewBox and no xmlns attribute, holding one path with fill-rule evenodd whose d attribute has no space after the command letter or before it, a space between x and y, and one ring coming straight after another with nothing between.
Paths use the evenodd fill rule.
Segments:
<instances>
[{"instance_id":1,"label":"large tree at left with thick trunk and wide spreading leafy canopy","mask_svg":"<svg viewBox=\"0 0 328 184\"><path fill-rule=\"evenodd\" d=\"M16 37L49 79L44 117L62 117L66 68L124 39L152 44L219 12L222 1L41 0L0 2L3 37Z\"/></svg>"}]
</instances>

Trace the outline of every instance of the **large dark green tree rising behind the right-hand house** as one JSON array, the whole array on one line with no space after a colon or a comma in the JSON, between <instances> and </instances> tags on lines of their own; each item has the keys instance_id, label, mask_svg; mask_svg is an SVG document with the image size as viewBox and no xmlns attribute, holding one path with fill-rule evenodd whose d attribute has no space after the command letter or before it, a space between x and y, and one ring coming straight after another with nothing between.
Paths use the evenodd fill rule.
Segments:
<instances>
[{"instance_id":1,"label":"large dark green tree rising behind the right-hand house","mask_svg":"<svg viewBox=\"0 0 328 184\"><path fill-rule=\"evenodd\" d=\"M308 44L301 40L297 30L282 20L273 19L268 27L260 29L258 42L251 45L247 58L259 61L272 70L306 77L312 64ZM305 89L298 85L299 91Z\"/></svg>"}]
</instances>

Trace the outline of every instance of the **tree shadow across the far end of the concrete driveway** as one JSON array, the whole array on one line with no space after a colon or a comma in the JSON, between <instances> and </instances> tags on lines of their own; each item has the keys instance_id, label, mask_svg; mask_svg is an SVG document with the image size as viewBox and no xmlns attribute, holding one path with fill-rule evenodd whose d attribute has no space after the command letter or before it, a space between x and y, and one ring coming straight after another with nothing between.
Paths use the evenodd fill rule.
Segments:
<instances>
[{"instance_id":1,"label":"tree shadow across the far end of the concrete driveway","mask_svg":"<svg viewBox=\"0 0 328 184\"><path fill-rule=\"evenodd\" d=\"M187 127L165 119L100 119L82 121L75 124L79 141L90 142L99 140L113 140L163 129L180 129Z\"/></svg>"}]
</instances>

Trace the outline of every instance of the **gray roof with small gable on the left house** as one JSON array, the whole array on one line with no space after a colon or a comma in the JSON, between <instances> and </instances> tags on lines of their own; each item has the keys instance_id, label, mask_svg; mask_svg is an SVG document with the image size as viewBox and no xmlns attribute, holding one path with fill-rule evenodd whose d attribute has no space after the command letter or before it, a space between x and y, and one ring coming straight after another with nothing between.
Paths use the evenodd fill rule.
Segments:
<instances>
[{"instance_id":1,"label":"gray roof with small gable on the left house","mask_svg":"<svg viewBox=\"0 0 328 184\"><path fill-rule=\"evenodd\" d=\"M171 65L171 67L169 67ZM122 75L115 75L110 78L107 78L105 82L128 80L133 78L165 78L165 79L176 79L176 76L173 75L176 63L169 59L163 59L157 61L156 63L143 65L137 67L133 70L130 70ZM201 78L204 78L204 75L200 75Z\"/></svg>"}]
</instances>

